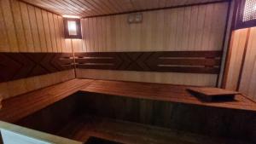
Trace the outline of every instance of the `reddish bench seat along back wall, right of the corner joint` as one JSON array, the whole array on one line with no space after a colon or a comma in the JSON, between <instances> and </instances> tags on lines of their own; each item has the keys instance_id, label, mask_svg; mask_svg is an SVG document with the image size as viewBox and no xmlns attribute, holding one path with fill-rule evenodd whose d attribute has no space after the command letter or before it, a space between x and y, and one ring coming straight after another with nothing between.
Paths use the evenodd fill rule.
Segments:
<instances>
[{"instance_id":1,"label":"reddish bench seat along back wall, right of the corner joint","mask_svg":"<svg viewBox=\"0 0 256 144\"><path fill-rule=\"evenodd\" d=\"M81 89L80 91L106 95L127 96L148 100L187 103L207 107L225 107L249 111L256 110L255 102L247 99L247 97L243 95L236 95L236 99L234 101L204 102L189 94L189 92L186 90L187 88L189 87L172 84L147 84L96 80L88 87Z\"/></svg>"}]
</instances>

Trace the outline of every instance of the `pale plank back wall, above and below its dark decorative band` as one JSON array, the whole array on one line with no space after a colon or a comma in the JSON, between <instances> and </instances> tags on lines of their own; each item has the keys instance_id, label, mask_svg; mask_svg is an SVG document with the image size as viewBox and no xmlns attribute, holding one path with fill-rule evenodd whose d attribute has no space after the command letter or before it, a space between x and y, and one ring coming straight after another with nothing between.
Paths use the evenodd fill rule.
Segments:
<instances>
[{"instance_id":1,"label":"pale plank back wall, above and below its dark decorative band","mask_svg":"<svg viewBox=\"0 0 256 144\"><path fill-rule=\"evenodd\" d=\"M74 52L222 50L229 3L143 12L143 22L128 14L81 20L83 39ZM177 72L125 72L77 69L79 78L215 86L218 75Z\"/></svg>"}]
</instances>

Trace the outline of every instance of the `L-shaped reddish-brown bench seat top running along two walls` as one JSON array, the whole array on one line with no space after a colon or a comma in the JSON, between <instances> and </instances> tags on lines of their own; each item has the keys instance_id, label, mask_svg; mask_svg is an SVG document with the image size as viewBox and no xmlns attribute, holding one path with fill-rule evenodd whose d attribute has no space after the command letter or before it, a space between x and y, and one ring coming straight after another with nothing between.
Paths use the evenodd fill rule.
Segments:
<instances>
[{"instance_id":1,"label":"L-shaped reddish-brown bench seat top running along two walls","mask_svg":"<svg viewBox=\"0 0 256 144\"><path fill-rule=\"evenodd\" d=\"M187 86L172 84L73 79L4 100L3 108L0 111L0 120L14 123L20 118L25 118L33 112L48 107L56 101L60 101L78 91L256 112L256 103L244 95L236 95L236 101L209 103L200 101L193 95L190 95L186 91L187 88Z\"/></svg>"}]
</instances>

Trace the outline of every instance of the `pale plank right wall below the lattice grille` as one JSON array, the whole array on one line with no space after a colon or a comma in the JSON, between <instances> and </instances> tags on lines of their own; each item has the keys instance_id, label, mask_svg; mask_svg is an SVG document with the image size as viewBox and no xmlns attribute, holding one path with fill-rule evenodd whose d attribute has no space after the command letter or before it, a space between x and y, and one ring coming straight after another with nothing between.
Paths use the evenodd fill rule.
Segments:
<instances>
[{"instance_id":1,"label":"pale plank right wall below the lattice grille","mask_svg":"<svg viewBox=\"0 0 256 144\"><path fill-rule=\"evenodd\" d=\"M231 38L230 65L225 87L233 90L238 88L241 93L256 100L256 27L236 30Z\"/></svg>"}]
</instances>

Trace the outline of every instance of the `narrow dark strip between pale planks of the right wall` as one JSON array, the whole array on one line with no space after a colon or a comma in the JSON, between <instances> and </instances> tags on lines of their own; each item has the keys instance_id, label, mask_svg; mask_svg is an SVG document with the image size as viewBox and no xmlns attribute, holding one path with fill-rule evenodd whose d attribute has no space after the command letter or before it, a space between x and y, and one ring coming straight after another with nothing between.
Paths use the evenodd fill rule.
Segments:
<instances>
[{"instance_id":1,"label":"narrow dark strip between pale planks of the right wall","mask_svg":"<svg viewBox=\"0 0 256 144\"><path fill-rule=\"evenodd\" d=\"M248 28L248 30L247 30L247 40L246 40L245 47L244 47L243 54L242 54L241 67L240 67L238 82L237 82L237 86L236 86L236 91L239 91L239 88L240 88L240 85L241 85L241 75L242 75L242 72L243 72L245 59L247 57L247 47L248 47L248 43L249 43L250 34L251 34L251 28Z\"/></svg>"}]
</instances>

